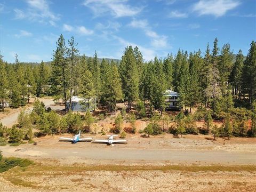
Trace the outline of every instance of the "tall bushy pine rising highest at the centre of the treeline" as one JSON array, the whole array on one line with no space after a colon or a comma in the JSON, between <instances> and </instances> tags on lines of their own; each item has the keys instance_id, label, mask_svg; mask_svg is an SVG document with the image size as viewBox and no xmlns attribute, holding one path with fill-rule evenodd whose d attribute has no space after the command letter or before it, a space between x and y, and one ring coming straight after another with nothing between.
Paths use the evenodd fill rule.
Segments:
<instances>
[{"instance_id":1,"label":"tall bushy pine rising highest at the centre of the treeline","mask_svg":"<svg viewBox=\"0 0 256 192\"><path fill-rule=\"evenodd\" d=\"M128 101L128 109L131 109L132 102L139 97L139 75L132 46L125 48L119 65L119 74L122 79L124 100Z\"/></svg>"}]
</instances>

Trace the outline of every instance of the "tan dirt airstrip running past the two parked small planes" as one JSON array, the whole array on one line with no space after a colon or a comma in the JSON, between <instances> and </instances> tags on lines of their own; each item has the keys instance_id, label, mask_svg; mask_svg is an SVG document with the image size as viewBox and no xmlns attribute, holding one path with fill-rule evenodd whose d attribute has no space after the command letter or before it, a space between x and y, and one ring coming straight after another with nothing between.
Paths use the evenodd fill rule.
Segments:
<instances>
[{"instance_id":1,"label":"tan dirt airstrip running past the two parked small planes","mask_svg":"<svg viewBox=\"0 0 256 192\"><path fill-rule=\"evenodd\" d=\"M71 135L70 135L71 137ZM102 137L103 138L103 137ZM5 156L61 159L64 163L196 163L256 165L256 143L226 143L173 138L129 138L114 147L103 143L61 142L58 137L37 140L38 145L1 147Z\"/></svg>"}]
</instances>

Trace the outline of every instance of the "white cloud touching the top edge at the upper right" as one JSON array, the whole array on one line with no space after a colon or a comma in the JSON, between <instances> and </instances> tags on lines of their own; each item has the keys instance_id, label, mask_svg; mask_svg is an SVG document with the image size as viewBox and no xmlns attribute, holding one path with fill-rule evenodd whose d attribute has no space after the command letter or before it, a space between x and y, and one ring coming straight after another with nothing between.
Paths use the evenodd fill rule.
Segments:
<instances>
[{"instance_id":1,"label":"white cloud touching the top edge at the upper right","mask_svg":"<svg viewBox=\"0 0 256 192\"><path fill-rule=\"evenodd\" d=\"M236 0L201 0L194 4L193 11L199 15L214 15L215 17L221 17L226 14L227 11L234 9L240 3Z\"/></svg>"}]
</instances>

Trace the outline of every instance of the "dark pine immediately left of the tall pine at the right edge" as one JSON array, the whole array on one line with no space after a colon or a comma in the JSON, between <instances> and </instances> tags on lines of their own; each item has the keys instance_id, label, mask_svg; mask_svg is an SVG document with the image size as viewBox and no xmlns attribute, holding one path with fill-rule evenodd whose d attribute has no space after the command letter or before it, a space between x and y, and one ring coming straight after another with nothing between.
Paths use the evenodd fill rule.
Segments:
<instances>
[{"instance_id":1,"label":"dark pine immediately left of the tall pine at the right edge","mask_svg":"<svg viewBox=\"0 0 256 192\"><path fill-rule=\"evenodd\" d=\"M242 73L243 73L243 61L244 55L241 50L239 50L236 55L236 61L233 65L230 74L230 84L232 85L232 93L238 95L241 99L241 86L242 86Z\"/></svg>"}]
</instances>

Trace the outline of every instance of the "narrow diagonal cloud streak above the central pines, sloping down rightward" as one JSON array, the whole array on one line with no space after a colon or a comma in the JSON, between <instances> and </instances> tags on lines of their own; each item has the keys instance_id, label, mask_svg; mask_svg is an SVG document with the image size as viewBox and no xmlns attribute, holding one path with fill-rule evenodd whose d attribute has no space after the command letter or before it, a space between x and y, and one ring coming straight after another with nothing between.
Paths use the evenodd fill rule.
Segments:
<instances>
[{"instance_id":1,"label":"narrow diagonal cloud streak above the central pines, sloping down rightward","mask_svg":"<svg viewBox=\"0 0 256 192\"><path fill-rule=\"evenodd\" d=\"M129 23L129 26L142 29L145 34L150 37L151 45L153 47L159 49L167 46L167 37L165 35L158 35L153 31L148 25L147 20L133 20Z\"/></svg>"}]
</instances>

